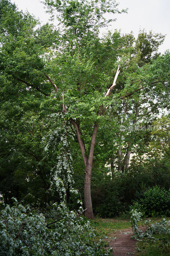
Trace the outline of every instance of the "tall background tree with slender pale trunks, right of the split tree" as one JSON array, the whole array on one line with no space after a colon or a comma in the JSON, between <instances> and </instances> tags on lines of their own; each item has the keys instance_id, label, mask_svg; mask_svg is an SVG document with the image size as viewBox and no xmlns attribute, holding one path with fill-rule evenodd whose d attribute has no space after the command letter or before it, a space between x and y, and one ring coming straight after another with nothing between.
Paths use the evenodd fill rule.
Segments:
<instances>
[{"instance_id":1,"label":"tall background tree with slender pale trunks, right of the split tree","mask_svg":"<svg viewBox=\"0 0 170 256\"><path fill-rule=\"evenodd\" d=\"M151 31L148 34L140 31L137 39L134 38L132 33L123 36L122 39L121 66L124 68L123 80L120 81L120 86L123 83L126 84L126 79L129 78L129 75L135 76L138 69L144 65L146 66L146 64L151 64L154 59L157 59L160 55L158 47L163 43L164 36L154 34ZM140 79L137 82L140 84ZM153 83L159 84L160 82L161 78ZM144 153L147 141L149 143L148 131L152 129L152 120L161 111L161 108L165 108L169 104L166 100L167 93L168 90L166 88L165 90L157 91L148 90L148 88L144 87L135 94L130 94L124 98L116 111L113 110L113 113L110 111L110 115L115 118L119 117L117 118L117 131L115 131L117 136L114 140L114 153L110 156L111 169L114 170L117 165L117 170L127 171L131 152ZM126 126L129 132L120 132L120 125Z\"/></svg>"}]
</instances>

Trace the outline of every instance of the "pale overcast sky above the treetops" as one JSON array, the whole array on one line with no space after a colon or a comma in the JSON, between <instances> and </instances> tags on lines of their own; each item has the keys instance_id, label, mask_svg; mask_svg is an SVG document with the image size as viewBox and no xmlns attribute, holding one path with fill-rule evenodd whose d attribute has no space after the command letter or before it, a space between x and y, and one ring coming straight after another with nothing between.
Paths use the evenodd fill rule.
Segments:
<instances>
[{"instance_id":1,"label":"pale overcast sky above the treetops","mask_svg":"<svg viewBox=\"0 0 170 256\"><path fill-rule=\"evenodd\" d=\"M11 0L19 10L33 13L45 23L48 14L45 13L43 4L39 0ZM159 48L160 52L170 49L170 1L169 0L120 0L119 9L128 8L128 13L114 15L117 18L109 29L121 29L122 33L134 32L137 36L139 29L152 30L166 35L164 44Z\"/></svg>"}]
</instances>

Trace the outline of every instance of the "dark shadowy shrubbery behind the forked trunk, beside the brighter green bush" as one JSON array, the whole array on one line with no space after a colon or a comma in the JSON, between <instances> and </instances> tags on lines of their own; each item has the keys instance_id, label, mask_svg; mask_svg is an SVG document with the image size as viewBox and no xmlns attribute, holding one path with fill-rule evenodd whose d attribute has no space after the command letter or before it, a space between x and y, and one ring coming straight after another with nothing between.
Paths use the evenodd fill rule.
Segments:
<instances>
[{"instance_id":1,"label":"dark shadowy shrubbery behind the forked trunk, beside the brighter green bush","mask_svg":"<svg viewBox=\"0 0 170 256\"><path fill-rule=\"evenodd\" d=\"M81 194L84 202L84 174L83 167L81 171L77 170L74 174L75 188ZM122 218L130 214L132 209L137 209L143 214L148 215L148 210L144 209L145 202L144 193L148 188L159 186L163 191L168 190L170 186L170 171L162 163L148 162L147 164L136 164L129 167L127 173L115 172L112 179L108 175L108 168L94 168L92 171L92 205L95 215L101 217L115 218L121 214ZM165 187L165 188L164 188ZM68 195L67 205L69 208L77 209L77 199L79 195ZM146 199L144 199L145 201ZM147 202L147 204L149 204ZM131 206L132 205L132 206ZM148 206L149 207L149 206ZM159 212L150 213L150 215L167 215L170 216L170 210L161 210ZM146 212L145 212L146 210ZM161 212L161 213L160 213Z\"/></svg>"}]
</instances>

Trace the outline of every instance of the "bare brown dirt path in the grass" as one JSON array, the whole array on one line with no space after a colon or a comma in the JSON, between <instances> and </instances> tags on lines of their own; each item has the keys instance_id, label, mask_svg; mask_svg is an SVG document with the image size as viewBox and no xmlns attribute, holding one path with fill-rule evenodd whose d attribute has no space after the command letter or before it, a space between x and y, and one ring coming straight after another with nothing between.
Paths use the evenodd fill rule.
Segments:
<instances>
[{"instance_id":1,"label":"bare brown dirt path in the grass","mask_svg":"<svg viewBox=\"0 0 170 256\"><path fill-rule=\"evenodd\" d=\"M112 233L111 236L116 236L116 241L113 239L110 242L110 246L113 248L114 251L114 256L137 255L135 249L135 247L137 247L137 241L135 241L133 238L130 238L132 236L132 233L132 228L122 229L116 231L115 233Z\"/></svg>"}]
</instances>

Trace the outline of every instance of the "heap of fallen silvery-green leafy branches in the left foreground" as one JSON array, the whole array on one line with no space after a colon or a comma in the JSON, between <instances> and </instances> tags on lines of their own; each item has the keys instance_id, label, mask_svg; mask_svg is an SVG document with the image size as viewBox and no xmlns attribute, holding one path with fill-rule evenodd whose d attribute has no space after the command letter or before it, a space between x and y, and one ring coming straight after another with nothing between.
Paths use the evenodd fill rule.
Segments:
<instances>
[{"instance_id":1,"label":"heap of fallen silvery-green leafy branches in the left foreground","mask_svg":"<svg viewBox=\"0 0 170 256\"><path fill-rule=\"evenodd\" d=\"M53 204L51 213L57 218L47 221L44 214L14 200L14 206L5 205L0 214L1 256L110 255L89 221L83 220L80 212L68 212L64 202Z\"/></svg>"}]
</instances>

